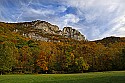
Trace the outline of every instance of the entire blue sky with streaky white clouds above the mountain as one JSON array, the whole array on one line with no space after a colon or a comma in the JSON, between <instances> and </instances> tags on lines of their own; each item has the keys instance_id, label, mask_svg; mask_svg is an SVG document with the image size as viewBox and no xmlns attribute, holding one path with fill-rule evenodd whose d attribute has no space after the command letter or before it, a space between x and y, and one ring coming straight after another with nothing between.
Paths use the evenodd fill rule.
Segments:
<instances>
[{"instance_id":1,"label":"entire blue sky with streaky white clouds above the mountain","mask_svg":"<svg viewBox=\"0 0 125 83\"><path fill-rule=\"evenodd\" d=\"M125 0L0 0L0 21L45 20L88 40L125 37Z\"/></svg>"}]
</instances>

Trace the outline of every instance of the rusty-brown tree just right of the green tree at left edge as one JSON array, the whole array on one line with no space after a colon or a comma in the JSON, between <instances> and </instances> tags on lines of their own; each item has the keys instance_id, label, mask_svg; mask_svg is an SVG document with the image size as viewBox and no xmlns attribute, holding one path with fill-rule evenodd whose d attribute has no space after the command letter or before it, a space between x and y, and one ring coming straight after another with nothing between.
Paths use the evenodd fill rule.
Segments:
<instances>
[{"instance_id":1,"label":"rusty-brown tree just right of the green tree at left edge","mask_svg":"<svg viewBox=\"0 0 125 83\"><path fill-rule=\"evenodd\" d=\"M19 53L17 67L22 68L22 73L32 72L34 61L30 47L23 46L19 49Z\"/></svg>"}]
</instances>

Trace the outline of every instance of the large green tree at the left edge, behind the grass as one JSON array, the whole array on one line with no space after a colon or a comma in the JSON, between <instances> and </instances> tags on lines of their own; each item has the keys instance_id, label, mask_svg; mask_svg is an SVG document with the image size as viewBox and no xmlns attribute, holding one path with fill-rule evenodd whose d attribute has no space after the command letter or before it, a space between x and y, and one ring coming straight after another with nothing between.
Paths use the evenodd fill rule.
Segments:
<instances>
[{"instance_id":1,"label":"large green tree at the left edge, behind the grass","mask_svg":"<svg viewBox=\"0 0 125 83\"><path fill-rule=\"evenodd\" d=\"M10 41L0 44L0 72L10 72L17 62L18 50Z\"/></svg>"}]
</instances>

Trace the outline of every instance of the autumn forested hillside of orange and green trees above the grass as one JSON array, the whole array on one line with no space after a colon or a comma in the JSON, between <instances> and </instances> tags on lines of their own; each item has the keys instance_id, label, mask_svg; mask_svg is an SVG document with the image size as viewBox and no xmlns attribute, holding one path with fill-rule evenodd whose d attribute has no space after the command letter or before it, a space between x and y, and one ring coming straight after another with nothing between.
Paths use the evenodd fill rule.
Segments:
<instances>
[{"instance_id":1,"label":"autumn forested hillside of orange and green trees above the grass","mask_svg":"<svg viewBox=\"0 0 125 83\"><path fill-rule=\"evenodd\" d=\"M54 30L49 31L50 34L48 29L44 33L29 25L1 22L0 73L125 70L124 37L87 41L78 31L69 34L70 30L73 31L71 28L62 31L63 35ZM35 36L30 32L35 33Z\"/></svg>"}]
</instances>

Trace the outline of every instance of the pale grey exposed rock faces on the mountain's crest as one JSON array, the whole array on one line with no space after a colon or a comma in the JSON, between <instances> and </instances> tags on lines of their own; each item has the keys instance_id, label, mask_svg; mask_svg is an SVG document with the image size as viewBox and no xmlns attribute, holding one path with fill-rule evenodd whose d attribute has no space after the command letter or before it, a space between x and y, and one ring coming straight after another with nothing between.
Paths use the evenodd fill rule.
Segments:
<instances>
[{"instance_id":1,"label":"pale grey exposed rock faces on the mountain's crest","mask_svg":"<svg viewBox=\"0 0 125 83\"><path fill-rule=\"evenodd\" d=\"M19 23L22 25L22 27L30 27L32 29L35 29L37 31L26 34L28 37L37 39L37 40L43 40L43 41L49 41L48 38L42 37L41 35L37 34L37 32L42 34L53 34L53 35L60 35L65 38L72 38L75 40L85 40L85 37L76 29L72 29L72 27L64 27L63 30L59 30L59 27L56 25L52 25L45 21L32 21L32 22L24 22Z\"/></svg>"}]
</instances>

